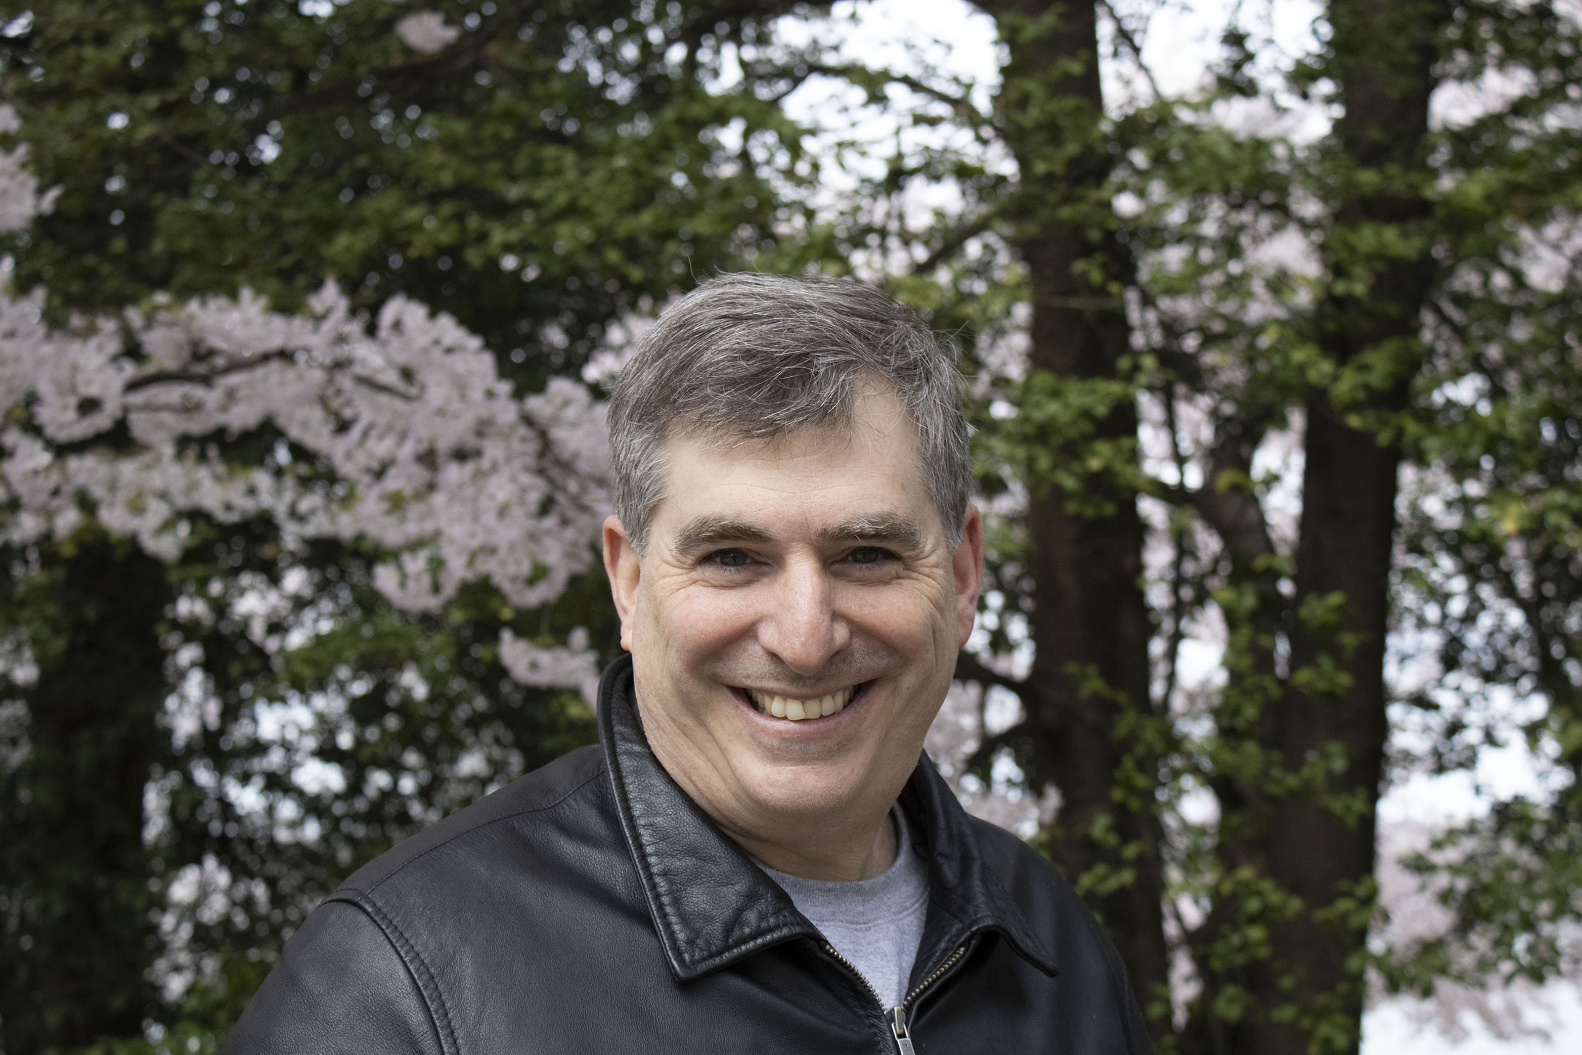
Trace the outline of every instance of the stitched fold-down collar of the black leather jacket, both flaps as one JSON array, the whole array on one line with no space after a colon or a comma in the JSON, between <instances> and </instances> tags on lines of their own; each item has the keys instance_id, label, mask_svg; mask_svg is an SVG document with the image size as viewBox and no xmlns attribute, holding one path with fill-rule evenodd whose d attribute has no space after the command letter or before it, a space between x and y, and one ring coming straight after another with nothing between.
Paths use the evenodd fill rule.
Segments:
<instances>
[{"instance_id":1,"label":"stitched fold-down collar of the black leather jacket, both flaps","mask_svg":"<svg viewBox=\"0 0 1582 1055\"><path fill-rule=\"evenodd\" d=\"M631 656L612 663L598 690L600 740L626 846L638 865L653 927L671 971L687 981L818 930L774 881L687 796L649 750L633 694ZM906 781L902 808L929 856L930 909L919 963L997 930L1054 974L1047 944L995 883L978 837L927 756Z\"/></svg>"}]
</instances>

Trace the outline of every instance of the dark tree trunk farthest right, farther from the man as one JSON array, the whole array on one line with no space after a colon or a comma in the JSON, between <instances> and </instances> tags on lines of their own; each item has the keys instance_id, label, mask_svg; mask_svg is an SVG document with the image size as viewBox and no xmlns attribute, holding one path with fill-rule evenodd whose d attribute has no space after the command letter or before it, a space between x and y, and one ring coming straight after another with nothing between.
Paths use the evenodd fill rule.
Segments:
<instances>
[{"instance_id":1,"label":"dark tree trunk farthest right, farther from the man","mask_svg":"<svg viewBox=\"0 0 1582 1055\"><path fill-rule=\"evenodd\" d=\"M1300 911L1274 928L1270 959L1250 971L1259 1011L1236 1044L1247 1055L1356 1052L1359 1044L1402 457L1380 437L1405 410L1421 367L1419 310L1435 277L1422 237L1429 95L1448 16L1440 0L1329 5L1326 71L1340 85L1345 115L1335 128L1343 176L1324 256L1337 286L1357 285L1335 289L1318 316L1342 383L1305 400L1291 679L1266 726L1269 758L1300 775L1294 791L1274 796L1267 875L1300 898ZM1406 250L1376 248L1381 229Z\"/></svg>"}]
</instances>

